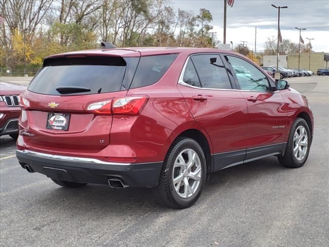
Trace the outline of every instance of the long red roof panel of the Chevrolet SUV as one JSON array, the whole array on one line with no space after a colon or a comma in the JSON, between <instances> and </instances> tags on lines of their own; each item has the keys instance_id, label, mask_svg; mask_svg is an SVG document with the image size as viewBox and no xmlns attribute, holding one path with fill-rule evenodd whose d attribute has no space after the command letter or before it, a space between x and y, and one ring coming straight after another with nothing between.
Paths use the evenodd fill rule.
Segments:
<instances>
[{"instance_id":1,"label":"long red roof panel of the Chevrolet SUV","mask_svg":"<svg viewBox=\"0 0 329 247\"><path fill-rule=\"evenodd\" d=\"M125 47L113 49L93 49L93 50L78 50L70 51L62 54L51 55L46 58L74 56L74 55L95 55L95 56L118 56L118 57L140 57L165 54L194 54L200 52L221 52L226 54L239 55L236 52L214 48L191 48L191 47Z\"/></svg>"}]
</instances>

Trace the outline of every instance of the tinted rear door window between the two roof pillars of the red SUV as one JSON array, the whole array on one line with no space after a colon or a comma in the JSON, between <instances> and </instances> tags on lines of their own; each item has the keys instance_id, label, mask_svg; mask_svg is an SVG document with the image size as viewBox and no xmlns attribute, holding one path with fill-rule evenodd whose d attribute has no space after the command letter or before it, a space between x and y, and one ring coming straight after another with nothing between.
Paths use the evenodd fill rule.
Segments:
<instances>
[{"instance_id":1,"label":"tinted rear door window between the two roof pillars of the red SUV","mask_svg":"<svg viewBox=\"0 0 329 247\"><path fill-rule=\"evenodd\" d=\"M208 89L231 89L226 68L218 55L197 55L192 57L202 87Z\"/></svg>"}]
</instances>

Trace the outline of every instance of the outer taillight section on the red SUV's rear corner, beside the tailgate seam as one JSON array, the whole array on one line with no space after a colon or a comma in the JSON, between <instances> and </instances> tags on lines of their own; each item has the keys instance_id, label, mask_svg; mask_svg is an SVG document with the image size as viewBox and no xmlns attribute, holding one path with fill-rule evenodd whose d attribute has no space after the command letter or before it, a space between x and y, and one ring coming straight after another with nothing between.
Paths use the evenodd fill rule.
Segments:
<instances>
[{"instance_id":1,"label":"outer taillight section on the red SUV's rear corner, beside the tailgate seam","mask_svg":"<svg viewBox=\"0 0 329 247\"><path fill-rule=\"evenodd\" d=\"M148 97L135 96L124 97L113 100L113 115L139 115L148 101Z\"/></svg>"}]
</instances>

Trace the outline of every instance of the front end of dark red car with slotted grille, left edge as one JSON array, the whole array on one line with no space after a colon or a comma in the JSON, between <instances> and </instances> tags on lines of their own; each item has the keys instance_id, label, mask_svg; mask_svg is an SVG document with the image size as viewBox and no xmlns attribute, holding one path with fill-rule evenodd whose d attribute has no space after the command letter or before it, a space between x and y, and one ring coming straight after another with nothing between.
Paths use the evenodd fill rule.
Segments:
<instances>
[{"instance_id":1,"label":"front end of dark red car with slotted grille, left edge","mask_svg":"<svg viewBox=\"0 0 329 247\"><path fill-rule=\"evenodd\" d=\"M19 95L24 90L23 86L0 82L0 136L9 135L17 139L21 114Z\"/></svg>"}]
</instances>

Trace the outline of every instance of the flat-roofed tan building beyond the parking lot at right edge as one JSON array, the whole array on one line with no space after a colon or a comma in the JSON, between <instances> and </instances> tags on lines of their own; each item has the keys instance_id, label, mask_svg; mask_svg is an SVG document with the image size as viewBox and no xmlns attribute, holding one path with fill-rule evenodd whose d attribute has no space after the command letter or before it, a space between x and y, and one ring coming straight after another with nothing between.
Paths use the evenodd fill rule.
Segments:
<instances>
[{"instance_id":1,"label":"flat-roofed tan building beyond the parking lot at right edge","mask_svg":"<svg viewBox=\"0 0 329 247\"><path fill-rule=\"evenodd\" d=\"M325 52L311 52L310 54L301 53L299 67L312 70L314 73L316 73L319 68L328 68L328 55L329 54L325 54ZM298 68L298 53L288 54L287 62L289 68Z\"/></svg>"}]
</instances>

